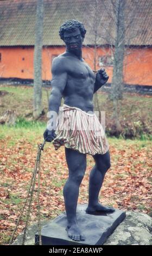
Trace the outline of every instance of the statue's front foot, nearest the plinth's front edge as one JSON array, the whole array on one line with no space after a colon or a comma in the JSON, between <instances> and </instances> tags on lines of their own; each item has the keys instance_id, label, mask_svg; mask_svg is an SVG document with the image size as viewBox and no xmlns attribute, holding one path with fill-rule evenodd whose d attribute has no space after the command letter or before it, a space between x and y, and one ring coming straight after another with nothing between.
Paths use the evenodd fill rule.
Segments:
<instances>
[{"instance_id":1,"label":"statue's front foot, nearest the plinth's front edge","mask_svg":"<svg viewBox=\"0 0 152 256\"><path fill-rule=\"evenodd\" d=\"M85 236L81 234L78 224L67 226L66 228L68 237L74 241L85 241Z\"/></svg>"}]
</instances>

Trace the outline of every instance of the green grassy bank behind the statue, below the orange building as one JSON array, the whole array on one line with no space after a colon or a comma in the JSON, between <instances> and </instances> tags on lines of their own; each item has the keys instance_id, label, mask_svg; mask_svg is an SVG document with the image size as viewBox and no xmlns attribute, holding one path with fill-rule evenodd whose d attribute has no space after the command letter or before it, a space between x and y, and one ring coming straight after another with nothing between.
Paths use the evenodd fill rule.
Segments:
<instances>
[{"instance_id":1,"label":"green grassy bank behind the statue, below the orange building","mask_svg":"<svg viewBox=\"0 0 152 256\"><path fill-rule=\"evenodd\" d=\"M0 116L5 110L14 110L17 117L32 120L33 88L28 86L0 86L0 91L8 92L0 96ZM39 121L47 121L48 97L50 88L42 89L42 106L45 112ZM106 132L113 135L113 106L105 92L98 93L99 109L105 111ZM63 101L62 101L63 102ZM118 101L119 120L122 136L125 138L151 138L152 96L124 93L123 100ZM97 110L97 109L95 109Z\"/></svg>"}]
</instances>

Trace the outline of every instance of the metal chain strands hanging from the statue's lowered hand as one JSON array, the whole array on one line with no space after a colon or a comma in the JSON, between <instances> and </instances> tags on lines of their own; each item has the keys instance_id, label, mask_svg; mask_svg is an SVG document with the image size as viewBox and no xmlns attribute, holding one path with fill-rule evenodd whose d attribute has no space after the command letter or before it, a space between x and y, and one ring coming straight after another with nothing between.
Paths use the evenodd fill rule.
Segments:
<instances>
[{"instance_id":1,"label":"metal chain strands hanging from the statue's lowered hand","mask_svg":"<svg viewBox=\"0 0 152 256\"><path fill-rule=\"evenodd\" d=\"M23 206L23 209L21 211L20 217L18 218L18 221L16 223L16 227L15 227L13 233L12 233L9 245L11 245L12 241L14 240L15 232L17 230L18 224L21 221L23 212L26 208L26 205L27 205L28 199L29 199L28 210L27 210L26 227L24 228L22 245L24 245L24 242L26 240L26 233L27 233L27 227L28 227L28 223L29 223L31 203L32 203L33 194L34 194L34 191L35 191L36 174L38 174L38 188L37 188L38 223L37 223L37 225L38 225L38 229L39 229L39 245L42 245L42 242L41 242L41 225L40 225L40 161L41 161L41 150L43 150L45 143L46 143L46 141L43 141L43 143L39 145L39 149L38 149L38 152L37 152L37 157L36 157L36 160L35 160L34 172L33 172L33 175L31 177L30 186L29 186L27 197L26 197L26 202L24 203L24 206Z\"/></svg>"}]
</instances>

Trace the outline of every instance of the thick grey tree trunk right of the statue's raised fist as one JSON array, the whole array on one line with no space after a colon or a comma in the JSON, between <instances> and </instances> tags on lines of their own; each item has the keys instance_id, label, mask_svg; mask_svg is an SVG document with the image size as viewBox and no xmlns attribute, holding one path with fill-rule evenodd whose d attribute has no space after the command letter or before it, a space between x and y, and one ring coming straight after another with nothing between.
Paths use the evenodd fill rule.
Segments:
<instances>
[{"instance_id":1,"label":"thick grey tree trunk right of the statue's raised fist","mask_svg":"<svg viewBox=\"0 0 152 256\"><path fill-rule=\"evenodd\" d=\"M118 100L123 97L123 59L124 59L124 5L125 1L116 0L116 41L113 62L113 76L110 99Z\"/></svg>"}]
</instances>

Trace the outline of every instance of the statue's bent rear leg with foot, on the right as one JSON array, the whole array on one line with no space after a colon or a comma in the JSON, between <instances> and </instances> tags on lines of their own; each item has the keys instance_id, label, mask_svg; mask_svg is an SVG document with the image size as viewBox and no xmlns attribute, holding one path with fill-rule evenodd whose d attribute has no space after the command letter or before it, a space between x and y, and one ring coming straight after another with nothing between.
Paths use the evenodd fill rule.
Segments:
<instances>
[{"instance_id":1,"label":"statue's bent rear leg with foot, on the right","mask_svg":"<svg viewBox=\"0 0 152 256\"><path fill-rule=\"evenodd\" d=\"M90 173L89 182L89 199L86 212L89 214L99 214L99 212L113 212L115 209L103 206L99 203L99 192L102 187L104 176L107 170L110 168L110 153L107 151L104 155L94 155L95 166Z\"/></svg>"}]
</instances>

